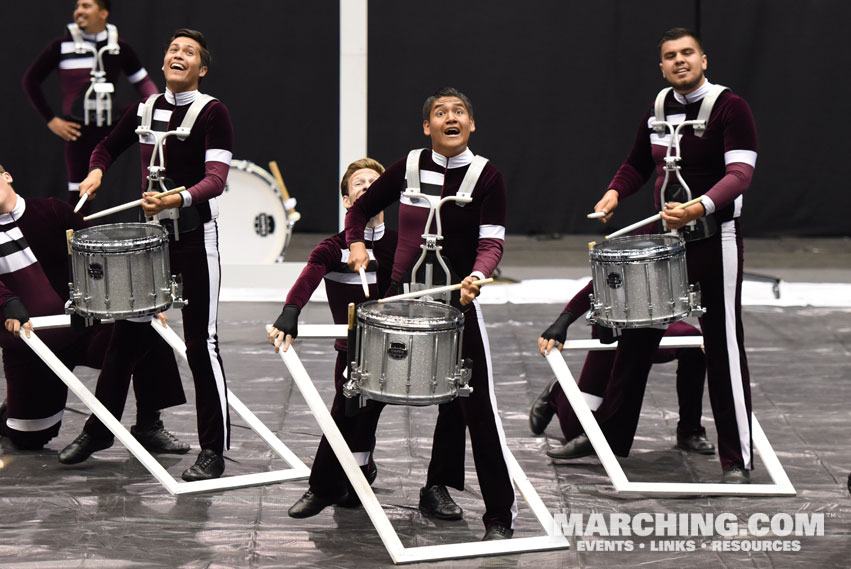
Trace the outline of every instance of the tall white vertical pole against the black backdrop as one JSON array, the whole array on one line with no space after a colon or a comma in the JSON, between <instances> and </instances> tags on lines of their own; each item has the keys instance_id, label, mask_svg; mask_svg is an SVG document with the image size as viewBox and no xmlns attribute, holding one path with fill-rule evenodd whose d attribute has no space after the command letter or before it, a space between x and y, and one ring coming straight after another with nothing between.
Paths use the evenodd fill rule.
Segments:
<instances>
[{"instance_id":1,"label":"tall white vertical pole against the black backdrop","mask_svg":"<svg viewBox=\"0 0 851 569\"><path fill-rule=\"evenodd\" d=\"M366 156L367 1L340 0L340 155L339 175ZM339 227L346 209L339 199Z\"/></svg>"}]
</instances>

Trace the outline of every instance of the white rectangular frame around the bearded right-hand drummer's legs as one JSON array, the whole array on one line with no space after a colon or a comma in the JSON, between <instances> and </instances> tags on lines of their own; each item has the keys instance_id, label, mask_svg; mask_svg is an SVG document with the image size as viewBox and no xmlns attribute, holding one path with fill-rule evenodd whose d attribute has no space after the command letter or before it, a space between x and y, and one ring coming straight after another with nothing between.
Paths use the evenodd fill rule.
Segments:
<instances>
[{"instance_id":1,"label":"white rectangular frame around the bearded right-hand drummer's legs","mask_svg":"<svg viewBox=\"0 0 851 569\"><path fill-rule=\"evenodd\" d=\"M668 337L662 338L659 344L663 348L699 347L703 344L700 336ZM613 344L602 344L599 340L571 340L564 344L565 350L614 350L617 342ZM772 484L721 484L701 482L630 482L621 468L617 457L612 452L609 442L606 440L597 419L588 407L588 403L582 396L579 386L567 363L564 361L562 352L552 350L546 356L547 362L553 370L564 394L567 396L570 406L576 413L585 434L591 441L597 457L603 464L606 474L612 481L616 492L624 494L671 494L680 496L697 495L723 495L723 496L794 496L795 487L786 475L783 465L768 442L755 414L751 414L753 428L753 444L756 451L765 464Z\"/></svg>"}]
</instances>

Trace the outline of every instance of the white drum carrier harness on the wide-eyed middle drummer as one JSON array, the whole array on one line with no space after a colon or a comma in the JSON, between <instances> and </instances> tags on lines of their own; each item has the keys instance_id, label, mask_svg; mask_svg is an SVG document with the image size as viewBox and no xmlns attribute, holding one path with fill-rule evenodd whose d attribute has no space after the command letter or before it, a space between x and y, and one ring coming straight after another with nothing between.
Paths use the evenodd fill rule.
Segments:
<instances>
[{"instance_id":1,"label":"white drum carrier harness on the wide-eyed middle drummer","mask_svg":"<svg viewBox=\"0 0 851 569\"><path fill-rule=\"evenodd\" d=\"M440 244L443 240L443 226L440 220L440 208L443 204L450 201L454 201L455 205L458 207L464 207L473 201L473 189L476 187L476 183L479 181L482 171L488 163L487 158L483 156L474 156L473 161L467 168L467 173L464 175L464 179L461 180L461 185L458 187L458 191L455 192L455 195L441 198L435 204L434 201L430 199L430 196L423 194L420 189L420 156L425 150L426 149L424 148L411 150L408 153L408 159L405 164L405 180L407 182L407 188L402 193L402 196L410 199L411 201L426 200L426 203L429 206L429 213L425 224L425 233L422 235L425 242L420 245L420 248L423 251L420 254L419 259L417 259L417 262L414 263L414 268L411 270L411 282L405 283L404 292L424 290L432 288L436 284L452 283L452 271L446 264L443 256L440 254L440 251L443 249L443 246ZM436 221L435 233L431 233L432 219ZM443 283L435 283L435 264L439 265L440 268L443 269L445 276L445 281L443 281ZM418 282L419 277L417 276L417 273L420 271L420 268L423 269L423 275L421 282ZM437 298L432 298L431 296L424 296L422 298L448 303L450 293L441 293L437 296Z\"/></svg>"}]
</instances>

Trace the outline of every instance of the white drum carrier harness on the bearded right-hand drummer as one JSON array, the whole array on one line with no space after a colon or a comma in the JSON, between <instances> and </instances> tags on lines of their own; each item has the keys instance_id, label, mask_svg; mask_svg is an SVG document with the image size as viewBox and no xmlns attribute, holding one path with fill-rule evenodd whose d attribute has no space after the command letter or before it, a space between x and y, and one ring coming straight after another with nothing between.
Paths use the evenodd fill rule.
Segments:
<instances>
[{"instance_id":1,"label":"white drum carrier harness on the bearded right-hand drummer","mask_svg":"<svg viewBox=\"0 0 851 569\"><path fill-rule=\"evenodd\" d=\"M692 199L691 189L686 184L681 173L680 131L683 127L691 126L694 130L694 135L701 138L706 133L706 125L709 122L709 116L712 114L712 108L715 106L715 102L721 93L727 90L727 87L712 85L700 103L697 118L683 121L676 126L665 120L665 99L672 89L673 87L667 87L659 91L659 94L656 95L656 102L653 105L655 116L651 124L659 137L663 137L666 134L669 134L671 137L668 141L668 149L665 152L665 165L663 167L665 170L665 179L662 181L662 187L659 190L662 204L669 201L685 203ZM671 155L671 150L674 151L673 156ZM671 180L672 173L676 177L675 180ZM686 241L697 241L711 237L717 230L718 222L715 221L714 216L705 215L699 219L690 221L685 227L679 230L679 234Z\"/></svg>"}]
</instances>

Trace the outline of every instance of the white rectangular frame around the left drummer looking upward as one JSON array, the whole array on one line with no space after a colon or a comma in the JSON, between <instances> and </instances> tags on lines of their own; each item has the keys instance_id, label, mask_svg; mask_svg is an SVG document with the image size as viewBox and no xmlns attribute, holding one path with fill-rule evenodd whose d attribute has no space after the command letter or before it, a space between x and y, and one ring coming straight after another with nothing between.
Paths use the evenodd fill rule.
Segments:
<instances>
[{"instance_id":1,"label":"white rectangular frame around the left drummer looking upward","mask_svg":"<svg viewBox=\"0 0 851 569\"><path fill-rule=\"evenodd\" d=\"M46 316L32 318L33 327L58 328L70 325L70 317L67 315ZM163 327L159 320L154 319L151 323L154 329L169 343L169 345L184 358L186 358L186 345L174 330ZM284 470L272 470L268 472L257 472L252 474L240 474L226 476L213 480L198 480L195 482L180 482L175 479L162 465L145 449L136 438L130 434L124 425L118 421L103 404L97 400L94 394L77 378L74 373L63 364L56 354L48 348L44 342L32 333L30 338L21 335L24 342L50 367L51 370L68 386L88 409L115 435L130 453L142 463L148 472L163 485L169 494L194 494L198 492L212 492L227 490L230 488L243 488L261 484L272 484L287 480L301 480L310 476L310 469L292 452L281 440L275 436L255 415L252 413L236 395L228 390L228 402L234 411L245 420L251 429L262 438L272 450L281 457L290 468Z\"/></svg>"}]
</instances>

